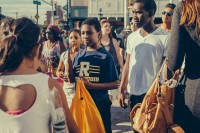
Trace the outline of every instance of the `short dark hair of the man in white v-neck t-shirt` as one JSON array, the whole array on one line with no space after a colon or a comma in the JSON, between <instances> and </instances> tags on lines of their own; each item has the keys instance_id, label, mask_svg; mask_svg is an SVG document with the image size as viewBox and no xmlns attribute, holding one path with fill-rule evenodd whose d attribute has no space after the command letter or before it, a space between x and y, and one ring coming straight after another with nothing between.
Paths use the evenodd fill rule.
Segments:
<instances>
[{"instance_id":1,"label":"short dark hair of the man in white v-neck t-shirt","mask_svg":"<svg viewBox=\"0 0 200 133\"><path fill-rule=\"evenodd\" d=\"M149 15L150 16L155 15L157 6L156 6L156 2L154 0L135 0L134 3L143 3L144 4L143 8L147 12L149 12Z\"/></svg>"}]
</instances>

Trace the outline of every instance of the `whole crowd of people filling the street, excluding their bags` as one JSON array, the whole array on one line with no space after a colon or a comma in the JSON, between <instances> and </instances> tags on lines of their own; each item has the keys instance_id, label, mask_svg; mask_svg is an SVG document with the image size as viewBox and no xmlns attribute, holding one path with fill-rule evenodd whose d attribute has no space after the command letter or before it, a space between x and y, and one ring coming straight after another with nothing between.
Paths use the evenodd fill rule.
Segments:
<instances>
[{"instance_id":1,"label":"whole crowd of people filling the street, excluding their bags","mask_svg":"<svg viewBox=\"0 0 200 133\"><path fill-rule=\"evenodd\" d=\"M78 79L111 133L112 100L131 111L143 101L164 60L168 79L184 64L175 123L186 133L200 131L199 7L199 0L169 3L162 23L155 24L155 1L135 0L130 27L119 27L116 34L107 19L88 18L67 32L54 25L40 29L25 17L3 19L0 133L81 132L69 110Z\"/></svg>"}]
</instances>

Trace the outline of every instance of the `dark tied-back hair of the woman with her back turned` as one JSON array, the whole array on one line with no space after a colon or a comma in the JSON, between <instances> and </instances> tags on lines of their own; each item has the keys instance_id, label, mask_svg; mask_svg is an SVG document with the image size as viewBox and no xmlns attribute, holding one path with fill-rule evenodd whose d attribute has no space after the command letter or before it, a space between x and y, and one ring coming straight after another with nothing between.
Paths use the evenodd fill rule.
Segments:
<instances>
[{"instance_id":1,"label":"dark tied-back hair of the woman with her back turned","mask_svg":"<svg viewBox=\"0 0 200 133\"><path fill-rule=\"evenodd\" d=\"M28 18L14 21L13 35L0 42L0 73L19 67L24 57L33 59L38 46L40 28Z\"/></svg>"}]
</instances>

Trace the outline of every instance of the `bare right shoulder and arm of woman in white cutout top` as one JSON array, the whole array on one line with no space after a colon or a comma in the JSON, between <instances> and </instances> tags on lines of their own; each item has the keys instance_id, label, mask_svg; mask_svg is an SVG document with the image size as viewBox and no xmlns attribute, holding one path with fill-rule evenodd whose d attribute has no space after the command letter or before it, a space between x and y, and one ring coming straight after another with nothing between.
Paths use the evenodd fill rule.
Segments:
<instances>
[{"instance_id":1,"label":"bare right shoulder and arm of woman in white cutout top","mask_svg":"<svg viewBox=\"0 0 200 133\"><path fill-rule=\"evenodd\" d=\"M60 93L63 109L64 109L65 114L66 114L65 116L66 116L66 121L67 121L67 126L68 126L68 129L69 129L69 132L70 133L80 133L80 130L79 130L78 126L76 125L76 122L74 121L72 114L69 110L69 107L68 107L68 104L67 104L67 98L66 98L66 95L64 94L64 91L62 90L62 87L60 86L60 84L56 80L49 78L49 88L53 89L54 87Z\"/></svg>"}]
</instances>

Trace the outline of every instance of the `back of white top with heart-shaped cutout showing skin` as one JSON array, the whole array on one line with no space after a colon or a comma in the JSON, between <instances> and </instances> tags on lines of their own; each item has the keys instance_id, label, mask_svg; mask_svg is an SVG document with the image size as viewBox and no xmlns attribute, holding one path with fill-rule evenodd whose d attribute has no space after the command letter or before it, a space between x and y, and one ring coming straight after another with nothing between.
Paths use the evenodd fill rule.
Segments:
<instances>
[{"instance_id":1,"label":"back of white top with heart-shaped cutout showing skin","mask_svg":"<svg viewBox=\"0 0 200 133\"><path fill-rule=\"evenodd\" d=\"M0 132L49 133L48 76L35 73L0 77Z\"/></svg>"}]
</instances>

